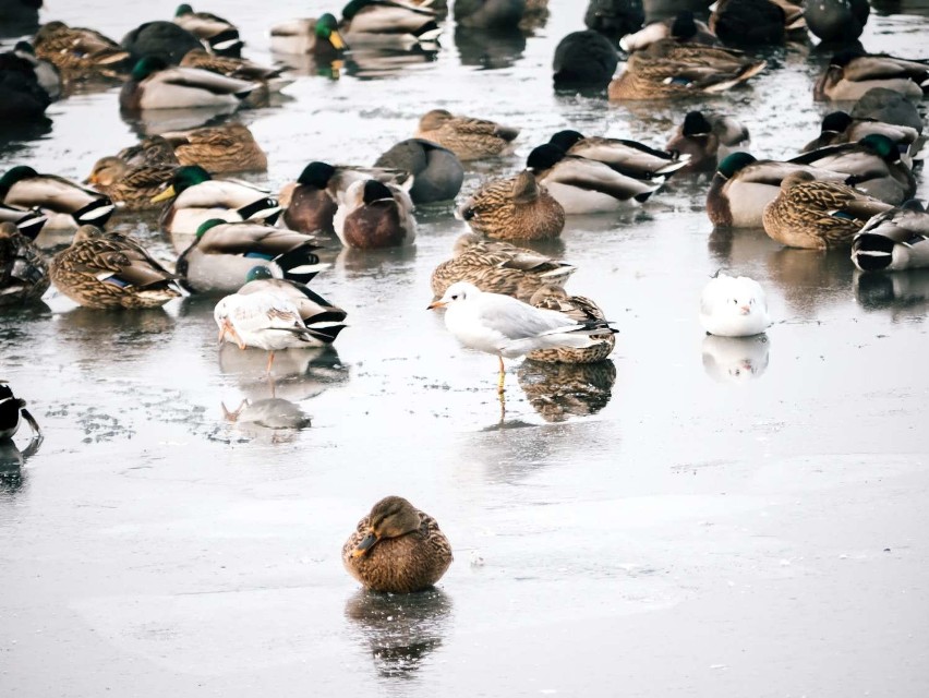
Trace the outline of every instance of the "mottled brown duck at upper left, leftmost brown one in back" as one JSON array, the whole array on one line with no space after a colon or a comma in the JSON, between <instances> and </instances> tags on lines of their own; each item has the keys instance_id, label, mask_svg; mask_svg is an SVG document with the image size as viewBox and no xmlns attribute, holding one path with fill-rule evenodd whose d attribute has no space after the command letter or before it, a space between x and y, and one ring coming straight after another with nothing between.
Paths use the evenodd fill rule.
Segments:
<instances>
[{"instance_id":1,"label":"mottled brown duck at upper left, leftmost brown one in back","mask_svg":"<svg viewBox=\"0 0 929 698\"><path fill-rule=\"evenodd\" d=\"M94 29L49 22L33 38L36 56L71 74L116 76L131 68L129 51Z\"/></svg>"}]
</instances>

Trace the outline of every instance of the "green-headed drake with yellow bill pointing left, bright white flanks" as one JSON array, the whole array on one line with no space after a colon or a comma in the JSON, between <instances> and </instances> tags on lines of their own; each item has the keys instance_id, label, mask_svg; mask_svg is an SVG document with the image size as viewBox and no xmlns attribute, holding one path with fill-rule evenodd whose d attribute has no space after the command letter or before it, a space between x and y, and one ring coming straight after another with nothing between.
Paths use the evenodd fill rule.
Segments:
<instances>
[{"instance_id":1,"label":"green-headed drake with yellow bill pointing left, bright white flanks","mask_svg":"<svg viewBox=\"0 0 929 698\"><path fill-rule=\"evenodd\" d=\"M171 234L174 248L181 252L190 237L210 218L227 221L264 220L274 224L280 205L268 192L237 180L213 179L198 165L185 165L174 170L171 184L155 196L154 203L174 201L161 212L161 229Z\"/></svg>"}]
</instances>

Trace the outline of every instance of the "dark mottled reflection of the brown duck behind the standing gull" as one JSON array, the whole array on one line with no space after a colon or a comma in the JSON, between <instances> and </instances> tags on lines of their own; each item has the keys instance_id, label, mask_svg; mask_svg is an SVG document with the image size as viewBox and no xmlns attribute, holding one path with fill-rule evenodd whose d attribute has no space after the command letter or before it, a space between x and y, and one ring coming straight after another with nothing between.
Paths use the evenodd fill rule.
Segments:
<instances>
[{"instance_id":1,"label":"dark mottled reflection of the brown duck behind the standing gull","mask_svg":"<svg viewBox=\"0 0 929 698\"><path fill-rule=\"evenodd\" d=\"M596 363L540 363L526 360L517 372L519 387L546 422L595 414L613 397L616 366Z\"/></svg>"}]
</instances>

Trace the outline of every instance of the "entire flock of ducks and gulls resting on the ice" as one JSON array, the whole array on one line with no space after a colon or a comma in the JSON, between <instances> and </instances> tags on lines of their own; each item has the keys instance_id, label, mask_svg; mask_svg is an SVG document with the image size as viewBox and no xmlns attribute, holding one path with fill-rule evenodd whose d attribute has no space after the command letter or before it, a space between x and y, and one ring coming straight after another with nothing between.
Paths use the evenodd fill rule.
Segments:
<instances>
[{"instance_id":1,"label":"entire flock of ducks and gulls resting on the ice","mask_svg":"<svg viewBox=\"0 0 929 698\"><path fill-rule=\"evenodd\" d=\"M24 4L28 15L36 3ZM125 312L215 296L219 341L267 351L272 375L276 351L330 345L347 326L348 313L309 286L328 266L321 249L414 244L417 207L455 202L462 234L432 274L429 309L444 311L462 345L498 358L503 400L505 358L593 364L612 352L617 332L593 300L565 290L572 264L522 245L570 230L579 214L648 205L678 178L711 178L707 214L716 227L763 228L793 248L847 248L849 264L865 273L929 266L929 214L913 200L926 144L916 105L929 92L929 64L867 52L858 41L865 0L720 0L697 10L672 2L648 25L636 0L591 0L589 28L555 49L553 87L620 105L686 105L663 146L567 128L534 144L517 171L460 197L473 164L504 169L517 145L529 144L520 143L519 124L434 108L371 166L311 161L277 193L229 176L267 170L266 154L234 115L268 107L298 80L286 57L309 58L337 77L357 51L443 50L449 12L470 31L526 32L544 24L546 4L457 0L449 10L442 0L351 0L340 17L268 27L272 50L285 57L278 65L242 58L236 25L189 4L119 43L58 21L24 32L0 55L0 119L11 132L47 122L51 101L91 82L119 86L130 118L203 109L227 121L161 130L102 155L83 183L28 164L2 173L0 305L35 303L50 284L86 308ZM805 39L807 31L831 57L810 93L842 109L795 157L758 158L748 129L701 101L774 70L756 49ZM146 209L159 212L172 265L107 229L111 217ZM699 317L721 338L758 336L772 323L761 286L722 270L703 290ZM40 435L2 383L0 416L0 438L22 420ZM434 519L387 497L359 522L342 559L367 588L410 592L442 577L451 549Z\"/></svg>"}]
</instances>

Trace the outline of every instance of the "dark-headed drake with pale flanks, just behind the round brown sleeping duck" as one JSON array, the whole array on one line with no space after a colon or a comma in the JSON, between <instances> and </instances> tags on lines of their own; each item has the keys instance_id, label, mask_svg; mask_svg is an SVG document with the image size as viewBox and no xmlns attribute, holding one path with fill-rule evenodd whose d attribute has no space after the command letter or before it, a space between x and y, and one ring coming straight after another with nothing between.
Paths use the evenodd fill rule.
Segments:
<instances>
[{"instance_id":1,"label":"dark-headed drake with pale flanks, just behind the round brown sleeping duck","mask_svg":"<svg viewBox=\"0 0 929 698\"><path fill-rule=\"evenodd\" d=\"M632 200L642 203L664 181L626 177L603 163L567 155L551 143L533 149L526 165L566 214L618 210Z\"/></svg>"}]
</instances>

